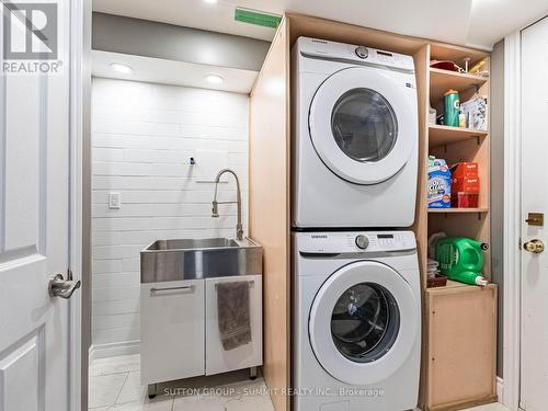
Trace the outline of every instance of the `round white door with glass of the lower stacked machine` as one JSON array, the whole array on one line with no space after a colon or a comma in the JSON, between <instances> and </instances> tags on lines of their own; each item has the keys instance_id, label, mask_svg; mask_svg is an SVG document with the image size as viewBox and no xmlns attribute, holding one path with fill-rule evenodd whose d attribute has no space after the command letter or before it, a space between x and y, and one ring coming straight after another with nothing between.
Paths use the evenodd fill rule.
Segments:
<instances>
[{"instance_id":1,"label":"round white door with glass of the lower stacked machine","mask_svg":"<svg viewBox=\"0 0 548 411\"><path fill-rule=\"evenodd\" d=\"M316 295L310 343L331 376L350 385L372 385L408 358L419 316L411 287L396 271L359 261L333 273Z\"/></svg>"}]
</instances>

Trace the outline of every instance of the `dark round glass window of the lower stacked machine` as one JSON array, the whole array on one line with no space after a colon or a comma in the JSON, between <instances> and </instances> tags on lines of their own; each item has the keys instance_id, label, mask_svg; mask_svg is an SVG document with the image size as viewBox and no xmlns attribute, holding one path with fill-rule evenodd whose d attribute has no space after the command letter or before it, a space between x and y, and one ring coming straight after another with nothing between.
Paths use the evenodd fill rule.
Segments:
<instances>
[{"instance_id":1,"label":"dark round glass window of the lower stacked machine","mask_svg":"<svg viewBox=\"0 0 548 411\"><path fill-rule=\"evenodd\" d=\"M361 283L338 299L331 335L339 352L357 363L380 358L390 350L400 326L393 296L378 284Z\"/></svg>"}]
</instances>

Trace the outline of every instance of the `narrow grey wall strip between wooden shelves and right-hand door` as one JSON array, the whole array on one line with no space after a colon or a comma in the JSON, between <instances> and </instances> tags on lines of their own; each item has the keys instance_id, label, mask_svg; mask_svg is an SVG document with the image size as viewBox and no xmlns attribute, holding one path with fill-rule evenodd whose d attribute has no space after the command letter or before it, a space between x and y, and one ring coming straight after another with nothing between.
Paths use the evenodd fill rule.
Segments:
<instances>
[{"instance_id":1,"label":"narrow grey wall strip between wooden shelves and right-hand door","mask_svg":"<svg viewBox=\"0 0 548 411\"><path fill-rule=\"evenodd\" d=\"M504 41L491 55L491 267L499 285L496 374L502 378L503 346L503 224L504 224Z\"/></svg>"}]
</instances>

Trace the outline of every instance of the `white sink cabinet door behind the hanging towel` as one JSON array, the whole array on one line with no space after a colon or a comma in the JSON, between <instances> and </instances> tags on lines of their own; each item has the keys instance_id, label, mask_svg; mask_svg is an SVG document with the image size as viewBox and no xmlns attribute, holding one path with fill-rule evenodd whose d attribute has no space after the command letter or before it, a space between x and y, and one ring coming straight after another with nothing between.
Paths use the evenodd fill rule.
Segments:
<instances>
[{"instance_id":1,"label":"white sink cabinet door behind the hanging towel","mask_svg":"<svg viewBox=\"0 0 548 411\"><path fill-rule=\"evenodd\" d=\"M249 282L251 342L225 351L220 342L216 284ZM262 365L263 359L263 285L261 275L206 279L206 375Z\"/></svg>"}]
</instances>

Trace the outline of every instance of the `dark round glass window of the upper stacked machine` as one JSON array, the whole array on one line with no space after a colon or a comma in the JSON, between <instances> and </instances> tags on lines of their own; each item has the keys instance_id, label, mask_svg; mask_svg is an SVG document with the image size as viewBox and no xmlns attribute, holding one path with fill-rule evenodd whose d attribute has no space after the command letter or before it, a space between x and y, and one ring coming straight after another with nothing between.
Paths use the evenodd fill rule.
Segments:
<instances>
[{"instance_id":1,"label":"dark round glass window of the upper stacked machine","mask_svg":"<svg viewBox=\"0 0 548 411\"><path fill-rule=\"evenodd\" d=\"M398 138L398 119L390 103L370 89L353 89L336 101L331 132L339 148L351 159L379 161Z\"/></svg>"}]
</instances>

